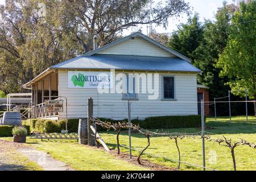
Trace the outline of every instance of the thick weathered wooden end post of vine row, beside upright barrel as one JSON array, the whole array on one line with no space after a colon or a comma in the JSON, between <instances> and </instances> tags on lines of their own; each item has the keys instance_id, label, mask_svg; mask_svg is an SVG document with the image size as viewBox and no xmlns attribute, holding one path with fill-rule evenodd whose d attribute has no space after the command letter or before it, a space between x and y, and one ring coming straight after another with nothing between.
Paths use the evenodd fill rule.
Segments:
<instances>
[{"instance_id":1,"label":"thick weathered wooden end post of vine row, beside upright barrel","mask_svg":"<svg viewBox=\"0 0 256 182\"><path fill-rule=\"evenodd\" d=\"M95 146L94 133L90 126L93 126L93 99L92 97L88 98L88 107L87 107L87 119L88 119L88 146Z\"/></svg>"}]
</instances>

